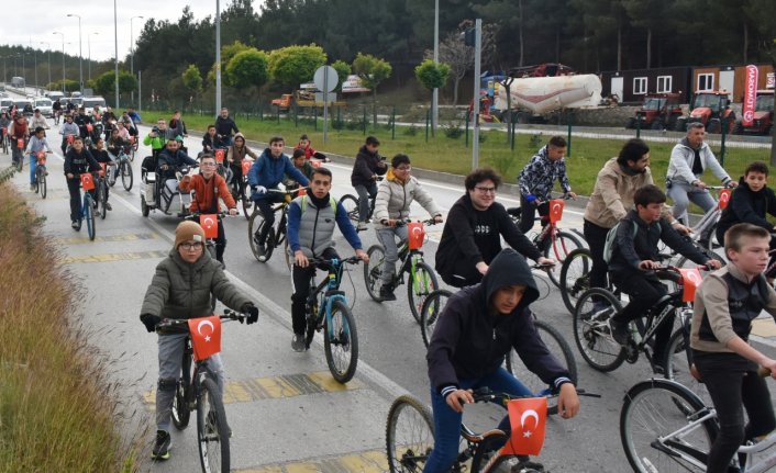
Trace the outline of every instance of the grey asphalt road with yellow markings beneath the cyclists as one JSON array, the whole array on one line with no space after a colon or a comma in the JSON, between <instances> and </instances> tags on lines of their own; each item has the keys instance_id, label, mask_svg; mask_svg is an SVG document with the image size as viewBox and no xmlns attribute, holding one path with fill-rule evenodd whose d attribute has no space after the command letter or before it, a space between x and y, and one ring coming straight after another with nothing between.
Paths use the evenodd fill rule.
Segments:
<instances>
[{"instance_id":1,"label":"grey asphalt road with yellow markings beneath the cyclists","mask_svg":"<svg viewBox=\"0 0 776 473\"><path fill-rule=\"evenodd\" d=\"M146 127L142 131L143 135L147 133ZM58 137L55 129L49 136ZM81 281L84 296L79 300L78 317L90 334L96 356L112 360L113 375L122 385L125 414L124 419L117 419L117 426L132 437L153 418L157 376L156 336L145 331L138 311L155 264L171 248L179 219L160 212L152 212L148 218L141 215L137 158L133 164L133 189L126 192L117 183L110 196L113 211L107 219L97 222L98 238L89 241L86 229L76 233L69 226L63 160L58 139L54 142L57 155L48 161L48 198L42 200L29 191L26 164L13 182L36 212L45 215L46 235L58 248L53 258ZM200 149L199 137L186 143L189 149ZM138 156L147 154L148 149L141 146ZM9 164L10 156L0 155L0 167ZM332 194L340 198L352 192L350 167L330 167L334 172ZM451 184L424 181L424 185L445 211L463 194L463 189ZM512 199L499 200L505 205L517 205ZM425 213L417 207L413 216L424 217ZM562 226L581 227L580 210L574 209L573 203L564 213ZM258 324L230 324L224 328L223 358L229 381L225 401L234 432L233 468L241 472L385 470L385 423L391 401L409 392L429 402L425 350L419 326L409 312L406 286L397 289L398 301L379 304L364 289L362 267L354 267L345 277L343 289L354 304L361 356L354 381L343 387L333 382L326 370L320 337L308 352L290 349L290 278L282 256L278 252L267 263L257 262L248 248L247 221L243 216L228 218L225 228L230 278L260 308ZM429 228L430 240L424 246L428 261L434 260L441 230L441 226ZM373 230L361 236L365 248L376 243ZM341 255L351 252L342 237L336 243ZM534 308L572 345L579 385L602 396L583 398L581 412L574 419L548 421L541 461L552 472L628 471L619 437L619 414L625 391L651 376L647 363L640 360L612 373L596 372L576 351L572 319L559 292L550 289ZM495 427L502 415L490 406L474 406L467 413L466 419L481 429ZM142 438L149 446L152 437L146 432ZM176 431L173 437L173 458L162 464L144 463L143 471L198 471L196 426Z\"/></svg>"}]
</instances>

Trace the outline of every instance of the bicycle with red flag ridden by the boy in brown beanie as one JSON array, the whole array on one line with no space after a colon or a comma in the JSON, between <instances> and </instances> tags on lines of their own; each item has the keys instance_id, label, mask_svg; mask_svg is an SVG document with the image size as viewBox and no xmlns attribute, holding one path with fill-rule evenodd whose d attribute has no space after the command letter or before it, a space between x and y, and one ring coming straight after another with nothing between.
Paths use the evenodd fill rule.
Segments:
<instances>
[{"instance_id":1,"label":"bicycle with red flag ridden by the boy in brown beanie","mask_svg":"<svg viewBox=\"0 0 776 473\"><path fill-rule=\"evenodd\" d=\"M247 316L233 311L223 315L192 319L164 319L156 326L157 334L187 334L181 373L173 398L173 425L184 430L189 425L192 410L197 410L197 442L204 473L228 472L231 466L230 428L217 375L208 359L221 351L221 320L240 320ZM210 347L201 334L209 327L218 333L218 345Z\"/></svg>"}]
</instances>

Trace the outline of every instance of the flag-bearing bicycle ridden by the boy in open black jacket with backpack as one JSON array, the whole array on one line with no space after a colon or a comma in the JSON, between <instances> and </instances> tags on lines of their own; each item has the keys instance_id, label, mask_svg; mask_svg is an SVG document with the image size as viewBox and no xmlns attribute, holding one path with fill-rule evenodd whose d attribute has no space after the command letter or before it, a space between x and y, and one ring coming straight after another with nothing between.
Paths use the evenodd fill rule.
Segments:
<instances>
[{"instance_id":1,"label":"flag-bearing bicycle ridden by the boy in open black jacket with backpack","mask_svg":"<svg viewBox=\"0 0 776 473\"><path fill-rule=\"evenodd\" d=\"M667 360L673 358L676 347L672 348L669 342L661 353L662 358L658 358L662 360L661 364L656 365L653 339L669 315L676 315L680 326L692 317L691 303L695 289L702 279L701 269L708 268L703 266L694 269L661 267L654 270L658 279L673 282L676 290L647 308L645 317L640 317L631 324L630 336L624 347L614 341L610 326L611 317L622 312L620 300L606 289L594 288L585 291L579 297L574 314L574 338L585 361L595 370L608 372L616 370L624 361L635 363L639 352L643 351L655 373L673 372L673 369L666 364L670 362Z\"/></svg>"}]
</instances>

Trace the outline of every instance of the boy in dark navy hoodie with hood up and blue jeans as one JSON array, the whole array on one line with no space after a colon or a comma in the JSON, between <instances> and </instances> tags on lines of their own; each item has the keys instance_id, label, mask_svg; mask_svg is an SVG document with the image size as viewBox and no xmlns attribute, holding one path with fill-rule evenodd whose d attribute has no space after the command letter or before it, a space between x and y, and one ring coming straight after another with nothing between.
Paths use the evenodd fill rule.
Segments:
<instances>
[{"instance_id":1,"label":"boy in dark navy hoodie with hood up and blue jeans","mask_svg":"<svg viewBox=\"0 0 776 473\"><path fill-rule=\"evenodd\" d=\"M448 218L450 221L450 218ZM425 356L434 410L434 450L424 473L448 472L458 455L461 419L472 390L489 387L513 396L533 395L501 367L517 350L525 367L558 392L558 413L568 419L579 398L568 372L536 333L529 305L539 297L525 259L511 248L494 258L483 282L453 294L439 317ZM510 432L509 417L499 425Z\"/></svg>"}]
</instances>

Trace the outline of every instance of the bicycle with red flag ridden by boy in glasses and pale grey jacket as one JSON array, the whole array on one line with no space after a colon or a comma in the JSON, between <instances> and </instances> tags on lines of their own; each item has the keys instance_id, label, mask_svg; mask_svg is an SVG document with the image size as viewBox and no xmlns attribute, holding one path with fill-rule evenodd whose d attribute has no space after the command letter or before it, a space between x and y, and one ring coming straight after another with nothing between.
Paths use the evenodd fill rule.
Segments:
<instances>
[{"instance_id":1,"label":"bicycle with red flag ridden by boy in glasses and pale grey jacket","mask_svg":"<svg viewBox=\"0 0 776 473\"><path fill-rule=\"evenodd\" d=\"M421 307L425 297L435 289L439 289L440 283L436 280L434 270L423 260L423 243L425 241L424 225L435 225L433 218L422 222L399 221L397 226L407 225L407 241L402 241L399 247L399 270L393 274L391 285L393 288L404 283L404 273L408 274L407 281L407 300L410 304L412 316L420 324ZM385 249L383 245L373 245L366 251L369 256L369 262L364 266L364 283L366 292L369 296L380 302L380 286L383 264L385 263Z\"/></svg>"}]
</instances>

